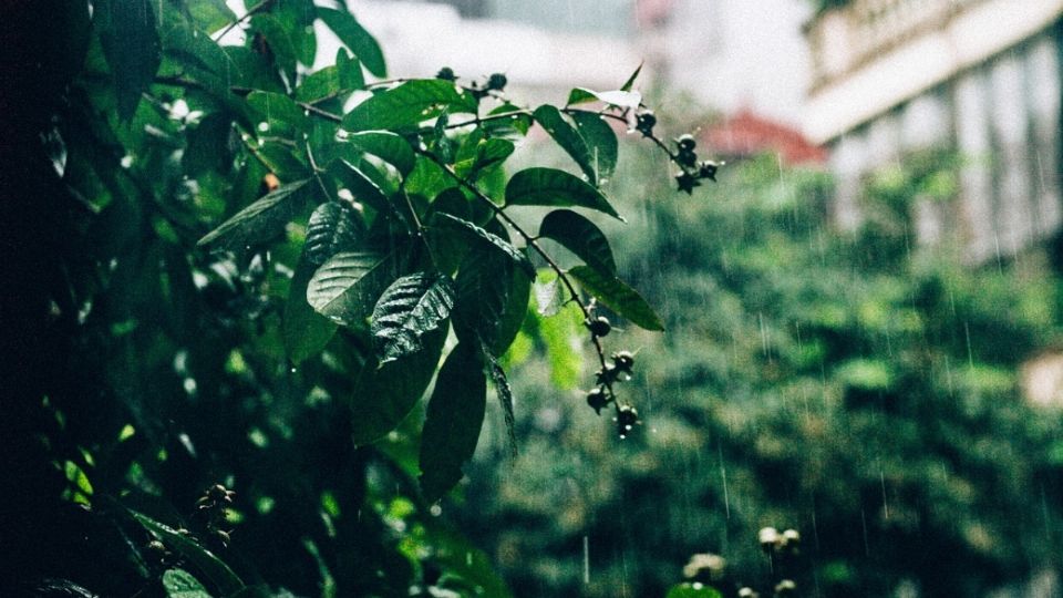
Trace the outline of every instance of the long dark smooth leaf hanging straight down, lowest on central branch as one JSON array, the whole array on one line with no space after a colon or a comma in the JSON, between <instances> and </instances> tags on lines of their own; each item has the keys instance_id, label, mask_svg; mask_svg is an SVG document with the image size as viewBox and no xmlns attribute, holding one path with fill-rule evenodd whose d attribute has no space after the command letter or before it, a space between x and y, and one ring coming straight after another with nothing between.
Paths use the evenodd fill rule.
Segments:
<instances>
[{"instance_id":1,"label":"long dark smooth leaf hanging straight down, lowest on central branch","mask_svg":"<svg viewBox=\"0 0 1063 598\"><path fill-rule=\"evenodd\" d=\"M434 503L462 480L484 423L487 379L474 344L460 342L440 375L421 433L421 491Z\"/></svg>"}]
</instances>

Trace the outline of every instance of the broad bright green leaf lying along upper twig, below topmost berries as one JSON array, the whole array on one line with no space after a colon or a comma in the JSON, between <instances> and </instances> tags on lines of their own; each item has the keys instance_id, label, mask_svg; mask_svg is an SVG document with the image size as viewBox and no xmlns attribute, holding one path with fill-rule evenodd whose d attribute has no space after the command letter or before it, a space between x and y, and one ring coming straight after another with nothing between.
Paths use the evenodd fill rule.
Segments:
<instances>
[{"instance_id":1,"label":"broad bright green leaf lying along upper twig, below topmost berries","mask_svg":"<svg viewBox=\"0 0 1063 598\"><path fill-rule=\"evenodd\" d=\"M416 79L376 93L354 106L343 117L343 128L413 127L433 117L435 109L448 109L452 113L475 112L476 102L458 92L450 81Z\"/></svg>"}]
</instances>

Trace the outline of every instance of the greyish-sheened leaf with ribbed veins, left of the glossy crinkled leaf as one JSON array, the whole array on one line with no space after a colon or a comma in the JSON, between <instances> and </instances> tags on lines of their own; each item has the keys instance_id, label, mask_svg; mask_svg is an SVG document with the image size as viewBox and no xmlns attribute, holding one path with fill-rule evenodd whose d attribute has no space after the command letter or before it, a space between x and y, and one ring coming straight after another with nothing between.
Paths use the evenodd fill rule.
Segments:
<instances>
[{"instance_id":1,"label":"greyish-sheened leaf with ribbed veins, left of the glossy crinkled leaf","mask_svg":"<svg viewBox=\"0 0 1063 598\"><path fill-rule=\"evenodd\" d=\"M381 293L399 276L395 254L343 251L329 258L307 285L307 301L343 326L364 322Z\"/></svg>"}]
</instances>

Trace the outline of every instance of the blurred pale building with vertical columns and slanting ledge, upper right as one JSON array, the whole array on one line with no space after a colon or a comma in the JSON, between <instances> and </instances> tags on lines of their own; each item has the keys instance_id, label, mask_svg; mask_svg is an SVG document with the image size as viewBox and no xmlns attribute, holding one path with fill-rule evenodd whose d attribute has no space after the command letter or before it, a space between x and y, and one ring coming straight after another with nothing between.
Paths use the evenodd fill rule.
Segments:
<instances>
[{"instance_id":1,"label":"blurred pale building with vertical columns and slanting ledge, upper right","mask_svg":"<svg viewBox=\"0 0 1063 598\"><path fill-rule=\"evenodd\" d=\"M920 241L970 262L1054 235L1061 209L1063 0L853 0L806 25L805 134L830 151L836 223L861 223L868 173L956 152L959 190L912 207Z\"/></svg>"}]
</instances>

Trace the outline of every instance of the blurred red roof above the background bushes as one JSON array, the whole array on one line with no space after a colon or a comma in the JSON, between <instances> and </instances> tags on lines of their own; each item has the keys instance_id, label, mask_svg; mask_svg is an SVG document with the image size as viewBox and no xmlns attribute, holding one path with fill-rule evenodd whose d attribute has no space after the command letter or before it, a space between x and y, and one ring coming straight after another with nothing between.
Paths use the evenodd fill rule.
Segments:
<instances>
[{"instance_id":1,"label":"blurred red roof above the background bushes","mask_svg":"<svg viewBox=\"0 0 1063 598\"><path fill-rule=\"evenodd\" d=\"M799 131L742 110L709 128L704 140L720 155L750 156L776 152L788 165L827 161L827 152L813 145Z\"/></svg>"}]
</instances>

